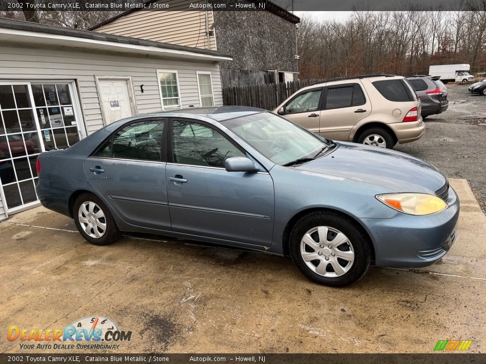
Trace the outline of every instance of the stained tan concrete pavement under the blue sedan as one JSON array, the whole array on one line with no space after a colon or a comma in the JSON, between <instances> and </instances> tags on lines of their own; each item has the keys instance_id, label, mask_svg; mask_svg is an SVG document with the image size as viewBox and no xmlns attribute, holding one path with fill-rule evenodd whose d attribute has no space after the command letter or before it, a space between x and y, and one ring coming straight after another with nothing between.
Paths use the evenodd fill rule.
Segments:
<instances>
[{"instance_id":1,"label":"stained tan concrete pavement under the blue sedan","mask_svg":"<svg viewBox=\"0 0 486 364\"><path fill-rule=\"evenodd\" d=\"M103 315L133 331L99 352L431 352L446 339L484 352L486 217L467 181L451 183L462 205L446 257L421 271L371 268L344 289L262 253L128 237L97 247L69 218L31 209L0 222L0 327L62 329ZM4 332L0 352L43 350Z\"/></svg>"}]
</instances>

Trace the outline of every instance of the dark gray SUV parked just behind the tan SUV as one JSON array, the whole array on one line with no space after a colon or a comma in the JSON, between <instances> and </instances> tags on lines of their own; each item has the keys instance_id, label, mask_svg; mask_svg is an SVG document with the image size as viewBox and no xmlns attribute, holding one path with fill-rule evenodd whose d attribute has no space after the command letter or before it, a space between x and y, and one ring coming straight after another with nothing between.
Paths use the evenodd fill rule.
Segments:
<instances>
[{"instance_id":1,"label":"dark gray SUV parked just behind the tan SUV","mask_svg":"<svg viewBox=\"0 0 486 364\"><path fill-rule=\"evenodd\" d=\"M407 79L420 98L423 119L447 110L449 107L447 87L439 80L439 76L414 75L407 77Z\"/></svg>"}]
</instances>

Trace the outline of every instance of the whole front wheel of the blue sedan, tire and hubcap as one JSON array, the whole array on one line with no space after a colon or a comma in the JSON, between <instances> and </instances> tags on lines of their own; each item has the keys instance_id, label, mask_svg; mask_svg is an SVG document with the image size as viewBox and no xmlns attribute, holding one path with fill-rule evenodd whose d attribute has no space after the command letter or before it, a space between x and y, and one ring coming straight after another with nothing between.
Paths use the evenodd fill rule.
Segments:
<instances>
[{"instance_id":1,"label":"whole front wheel of the blue sedan, tire and hubcap","mask_svg":"<svg viewBox=\"0 0 486 364\"><path fill-rule=\"evenodd\" d=\"M333 212L302 217L291 232L290 253L304 276L333 287L357 282L371 262L369 239L355 223Z\"/></svg>"}]
</instances>

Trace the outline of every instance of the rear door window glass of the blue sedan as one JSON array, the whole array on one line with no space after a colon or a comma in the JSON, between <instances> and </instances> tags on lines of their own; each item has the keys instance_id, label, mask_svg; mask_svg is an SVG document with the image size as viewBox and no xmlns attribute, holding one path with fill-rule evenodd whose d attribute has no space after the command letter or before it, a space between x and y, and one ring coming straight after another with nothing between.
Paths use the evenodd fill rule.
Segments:
<instances>
[{"instance_id":1,"label":"rear door window glass of the blue sedan","mask_svg":"<svg viewBox=\"0 0 486 364\"><path fill-rule=\"evenodd\" d=\"M105 142L96 156L161 161L164 126L162 120L130 124Z\"/></svg>"}]
</instances>

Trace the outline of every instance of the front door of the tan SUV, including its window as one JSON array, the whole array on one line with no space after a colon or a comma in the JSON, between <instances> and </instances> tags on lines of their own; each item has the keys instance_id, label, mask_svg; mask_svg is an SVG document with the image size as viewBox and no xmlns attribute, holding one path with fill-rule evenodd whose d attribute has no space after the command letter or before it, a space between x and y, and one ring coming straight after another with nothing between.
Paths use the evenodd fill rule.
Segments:
<instances>
[{"instance_id":1,"label":"front door of the tan SUV, including its window","mask_svg":"<svg viewBox=\"0 0 486 364\"><path fill-rule=\"evenodd\" d=\"M304 90L284 105L282 116L318 133L321 95L322 87Z\"/></svg>"}]
</instances>

